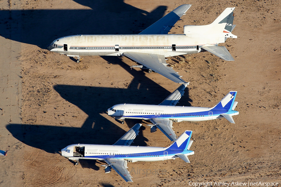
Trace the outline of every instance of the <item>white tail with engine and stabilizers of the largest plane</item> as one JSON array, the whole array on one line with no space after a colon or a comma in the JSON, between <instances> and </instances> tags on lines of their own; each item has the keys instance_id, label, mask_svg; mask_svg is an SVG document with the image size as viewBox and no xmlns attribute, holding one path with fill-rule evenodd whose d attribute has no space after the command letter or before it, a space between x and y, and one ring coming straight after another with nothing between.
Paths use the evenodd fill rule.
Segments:
<instances>
[{"instance_id":1,"label":"white tail with engine and stabilizers of the largest plane","mask_svg":"<svg viewBox=\"0 0 281 187\"><path fill-rule=\"evenodd\" d=\"M224 46L217 46L224 43L227 38L237 38L231 32L236 25L233 25L234 11L233 8L226 8L214 22L209 25L186 25L184 34L191 38L200 38L205 36L212 44L201 46L198 52L209 51L223 60L233 61L234 58ZM215 45L213 45L215 44Z\"/></svg>"}]
</instances>

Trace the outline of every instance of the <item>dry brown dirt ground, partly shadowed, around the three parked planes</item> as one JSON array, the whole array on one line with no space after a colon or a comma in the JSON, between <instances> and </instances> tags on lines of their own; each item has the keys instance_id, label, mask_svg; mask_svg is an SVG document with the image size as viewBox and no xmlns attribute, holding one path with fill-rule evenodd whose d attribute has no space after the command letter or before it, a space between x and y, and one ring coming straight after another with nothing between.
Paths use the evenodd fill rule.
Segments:
<instances>
[{"instance_id":1,"label":"dry brown dirt ground, partly shadowed, around the three parked planes","mask_svg":"<svg viewBox=\"0 0 281 187\"><path fill-rule=\"evenodd\" d=\"M9 136L1 134L0 148L9 146L10 152L0 158L0 186L281 183L280 0L0 3L0 37L21 46L18 60L22 69L22 120L5 123L3 133ZM134 183L126 183L113 170L105 174L100 161L81 161L75 166L60 156L59 151L72 143L113 144L137 122L143 127L134 145L169 146L163 133L150 133L148 122L126 120L122 125L106 111L119 103L161 103L180 85L160 74L131 70L130 65L136 64L125 57L85 56L77 64L73 58L47 51L46 46L58 37L74 34L133 34L186 3L192 7L170 33L183 33L184 25L209 24L226 7L236 7L233 34L238 39L221 44L235 61L208 52L168 58L168 63L191 81L178 105L212 107L235 90L239 111L235 124L226 119L174 123L178 136L193 131L191 164L181 159L128 163Z\"/></svg>"}]
</instances>

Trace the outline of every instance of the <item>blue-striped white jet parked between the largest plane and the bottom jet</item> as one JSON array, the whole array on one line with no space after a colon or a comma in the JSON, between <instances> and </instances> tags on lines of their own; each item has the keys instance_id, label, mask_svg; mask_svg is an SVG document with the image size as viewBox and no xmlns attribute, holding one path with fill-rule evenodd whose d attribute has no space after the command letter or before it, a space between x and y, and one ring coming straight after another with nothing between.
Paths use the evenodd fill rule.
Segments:
<instances>
[{"instance_id":1,"label":"blue-striped white jet parked between the largest plane and the bottom jet","mask_svg":"<svg viewBox=\"0 0 281 187\"><path fill-rule=\"evenodd\" d=\"M234 110L238 103L234 101L236 91L230 91L212 108L175 106L184 94L186 86L187 83L180 85L159 105L117 104L107 109L107 113L109 116L122 120L122 123L126 118L150 120L153 123L153 125L149 125L151 126L150 132L155 132L159 128L171 141L177 139L172 129L173 121L198 122L224 117L234 123L232 116L239 114Z\"/></svg>"}]
</instances>

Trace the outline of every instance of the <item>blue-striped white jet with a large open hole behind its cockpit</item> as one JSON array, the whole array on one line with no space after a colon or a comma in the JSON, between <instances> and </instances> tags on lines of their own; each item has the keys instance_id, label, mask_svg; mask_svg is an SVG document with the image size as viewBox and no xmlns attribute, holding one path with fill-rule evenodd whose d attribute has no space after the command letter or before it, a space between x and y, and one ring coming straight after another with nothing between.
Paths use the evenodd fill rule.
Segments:
<instances>
[{"instance_id":1,"label":"blue-striped white jet with a large open hole behind its cockpit","mask_svg":"<svg viewBox=\"0 0 281 187\"><path fill-rule=\"evenodd\" d=\"M109 173L113 168L126 182L133 182L130 172L127 170L127 162L137 161L164 161L168 159L181 158L190 163L187 156L193 155L194 151L189 148L193 141L190 141L192 131L185 131L169 147L144 147L130 146L138 135L140 123L132 127L123 137L113 145L91 145L74 144L62 149L62 156L70 160L94 159L105 161L105 173Z\"/></svg>"}]
</instances>

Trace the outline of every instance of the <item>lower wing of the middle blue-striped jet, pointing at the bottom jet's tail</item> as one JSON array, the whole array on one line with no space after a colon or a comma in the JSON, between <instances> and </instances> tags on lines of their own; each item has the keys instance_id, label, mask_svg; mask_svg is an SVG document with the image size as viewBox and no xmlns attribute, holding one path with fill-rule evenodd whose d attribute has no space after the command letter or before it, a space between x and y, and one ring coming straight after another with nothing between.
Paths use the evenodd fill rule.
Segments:
<instances>
[{"instance_id":1,"label":"lower wing of the middle blue-striped jet, pointing at the bottom jet's tail","mask_svg":"<svg viewBox=\"0 0 281 187\"><path fill-rule=\"evenodd\" d=\"M161 118L151 118L150 122L156 125L157 128L162 131L166 137L168 137L171 141L175 141L177 136L173 131L173 122L169 119L161 119Z\"/></svg>"}]
</instances>

